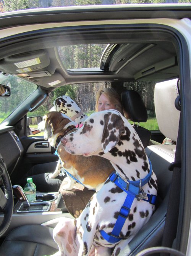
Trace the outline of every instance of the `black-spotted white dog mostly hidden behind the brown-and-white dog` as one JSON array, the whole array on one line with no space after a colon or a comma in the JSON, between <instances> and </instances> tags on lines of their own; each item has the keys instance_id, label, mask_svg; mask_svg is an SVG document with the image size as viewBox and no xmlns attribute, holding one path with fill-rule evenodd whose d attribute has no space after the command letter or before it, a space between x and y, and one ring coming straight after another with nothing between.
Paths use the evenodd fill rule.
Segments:
<instances>
[{"instance_id":1,"label":"black-spotted white dog mostly hidden behind the brown-and-white dog","mask_svg":"<svg viewBox=\"0 0 191 256\"><path fill-rule=\"evenodd\" d=\"M70 119L75 122L74 125L76 127L81 127L83 125L83 122L87 118L86 114L84 114L84 112L76 104L76 102L66 95L57 97L57 99L55 99L55 101L53 102L53 107L50 109L50 111L58 111L70 117ZM44 121L40 122L38 124L38 129L44 131L44 125ZM53 173L49 174L49 178L56 178L60 174L61 169L62 165L60 164L60 161L58 161L56 169ZM70 182L68 183L68 186L69 184Z\"/></svg>"}]
</instances>

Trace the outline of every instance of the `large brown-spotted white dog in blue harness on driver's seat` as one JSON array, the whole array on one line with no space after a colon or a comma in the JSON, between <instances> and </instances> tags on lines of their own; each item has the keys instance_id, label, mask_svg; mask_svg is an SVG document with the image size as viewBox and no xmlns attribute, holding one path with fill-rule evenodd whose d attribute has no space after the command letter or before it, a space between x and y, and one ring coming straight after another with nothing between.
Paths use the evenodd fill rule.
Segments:
<instances>
[{"instance_id":1,"label":"large brown-spotted white dog in blue harness on driver's seat","mask_svg":"<svg viewBox=\"0 0 191 256\"><path fill-rule=\"evenodd\" d=\"M110 160L116 172L77 219L63 218L54 228L57 255L116 256L155 209L157 178L141 140L118 111L106 110L89 116L61 142L70 154Z\"/></svg>"}]
</instances>

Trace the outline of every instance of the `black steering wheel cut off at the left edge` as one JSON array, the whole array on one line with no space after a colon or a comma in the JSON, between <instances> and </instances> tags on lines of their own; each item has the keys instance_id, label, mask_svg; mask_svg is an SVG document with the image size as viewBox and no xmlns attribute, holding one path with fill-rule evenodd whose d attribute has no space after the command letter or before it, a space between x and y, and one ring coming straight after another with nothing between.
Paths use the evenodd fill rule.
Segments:
<instances>
[{"instance_id":1,"label":"black steering wheel cut off at the left edge","mask_svg":"<svg viewBox=\"0 0 191 256\"><path fill-rule=\"evenodd\" d=\"M3 221L0 225L0 237L5 233L10 225L13 215L13 190L11 180L6 170L6 166L0 155L0 178L3 181L4 192L0 187L0 211L4 213Z\"/></svg>"}]
</instances>

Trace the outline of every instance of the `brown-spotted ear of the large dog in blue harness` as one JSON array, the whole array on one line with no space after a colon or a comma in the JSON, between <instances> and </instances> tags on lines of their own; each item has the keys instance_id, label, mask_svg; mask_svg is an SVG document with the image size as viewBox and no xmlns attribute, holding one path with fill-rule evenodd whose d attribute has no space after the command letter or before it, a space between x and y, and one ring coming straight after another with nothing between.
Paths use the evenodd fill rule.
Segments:
<instances>
[{"instance_id":1,"label":"brown-spotted ear of the large dog in blue harness","mask_svg":"<svg viewBox=\"0 0 191 256\"><path fill-rule=\"evenodd\" d=\"M109 152L118 144L122 132L125 132L125 125L121 116L113 113L105 114L102 134L102 150L104 153Z\"/></svg>"}]
</instances>

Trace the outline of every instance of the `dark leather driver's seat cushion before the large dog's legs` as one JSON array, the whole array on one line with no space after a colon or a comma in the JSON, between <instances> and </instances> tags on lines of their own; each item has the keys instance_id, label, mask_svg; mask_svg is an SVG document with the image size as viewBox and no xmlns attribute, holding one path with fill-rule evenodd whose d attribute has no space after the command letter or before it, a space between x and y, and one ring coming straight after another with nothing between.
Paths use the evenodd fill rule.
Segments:
<instances>
[{"instance_id":1,"label":"dark leather driver's seat cushion before the large dog's legs","mask_svg":"<svg viewBox=\"0 0 191 256\"><path fill-rule=\"evenodd\" d=\"M58 251L53 240L53 228L43 225L23 225L12 230L0 247L1 256L43 256Z\"/></svg>"}]
</instances>

